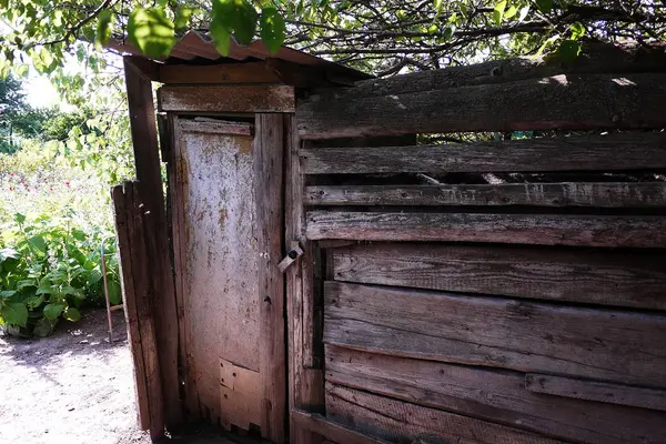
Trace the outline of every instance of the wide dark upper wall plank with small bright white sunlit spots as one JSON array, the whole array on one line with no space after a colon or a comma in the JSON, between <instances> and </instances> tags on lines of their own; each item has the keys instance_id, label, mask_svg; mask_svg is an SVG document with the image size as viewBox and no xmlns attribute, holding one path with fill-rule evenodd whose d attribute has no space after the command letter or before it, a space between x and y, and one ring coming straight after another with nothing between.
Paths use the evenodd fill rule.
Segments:
<instances>
[{"instance_id":1,"label":"wide dark upper wall plank with small bright white sunlit spots","mask_svg":"<svg viewBox=\"0 0 666 444\"><path fill-rule=\"evenodd\" d=\"M535 100L537 98L537 100ZM525 104L529 103L529 112ZM417 132L664 128L666 73L569 74L372 98L312 97L303 139Z\"/></svg>"}]
</instances>

